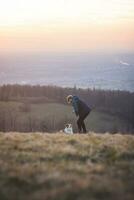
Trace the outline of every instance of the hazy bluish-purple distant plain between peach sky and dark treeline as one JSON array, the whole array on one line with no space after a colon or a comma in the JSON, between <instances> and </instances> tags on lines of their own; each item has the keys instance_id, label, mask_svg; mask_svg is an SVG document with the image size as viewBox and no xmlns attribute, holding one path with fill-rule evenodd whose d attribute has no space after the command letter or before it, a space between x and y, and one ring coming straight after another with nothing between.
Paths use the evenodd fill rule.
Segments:
<instances>
[{"instance_id":1,"label":"hazy bluish-purple distant plain between peach sky and dark treeline","mask_svg":"<svg viewBox=\"0 0 134 200\"><path fill-rule=\"evenodd\" d=\"M134 92L134 53L2 53L0 84Z\"/></svg>"}]
</instances>

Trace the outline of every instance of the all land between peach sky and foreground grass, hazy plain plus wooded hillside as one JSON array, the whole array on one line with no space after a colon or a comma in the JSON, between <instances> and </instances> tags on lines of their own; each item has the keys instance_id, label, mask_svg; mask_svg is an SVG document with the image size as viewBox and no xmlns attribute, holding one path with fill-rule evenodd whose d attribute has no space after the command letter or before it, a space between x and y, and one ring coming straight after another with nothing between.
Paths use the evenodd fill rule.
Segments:
<instances>
[{"instance_id":1,"label":"all land between peach sky and foreground grass, hazy plain plus wooded hillside","mask_svg":"<svg viewBox=\"0 0 134 200\"><path fill-rule=\"evenodd\" d=\"M0 129L53 132L70 122L77 132L65 100L73 94L93 108L89 131L133 133L133 58L133 53L2 53Z\"/></svg>"}]
</instances>

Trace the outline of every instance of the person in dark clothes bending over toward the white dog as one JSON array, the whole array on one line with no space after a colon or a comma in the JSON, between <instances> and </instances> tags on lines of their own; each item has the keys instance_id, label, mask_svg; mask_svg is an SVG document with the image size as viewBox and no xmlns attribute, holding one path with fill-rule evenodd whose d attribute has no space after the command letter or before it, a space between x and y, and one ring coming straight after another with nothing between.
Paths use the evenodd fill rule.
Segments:
<instances>
[{"instance_id":1,"label":"person in dark clothes bending over toward the white dog","mask_svg":"<svg viewBox=\"0 0 134 200\"><path fill-rule=\"evenodd\" d=\"M79 133L81 133L82 131L83 133L86 133L87 130L84 120L91 112L91 108L85 102L80 100L79 97L77 96L68 95L66 98L67 98L67 103L72 104L74 112L76 116L78 116L77 126Z\"/></svg>"}]
</instances>

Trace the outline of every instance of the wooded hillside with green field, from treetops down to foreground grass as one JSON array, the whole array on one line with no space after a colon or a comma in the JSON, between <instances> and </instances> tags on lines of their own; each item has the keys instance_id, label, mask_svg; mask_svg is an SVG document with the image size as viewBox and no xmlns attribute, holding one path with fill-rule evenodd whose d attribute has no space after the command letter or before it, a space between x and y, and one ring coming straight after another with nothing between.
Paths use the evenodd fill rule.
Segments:
<instances>
[{"instance_id":1,"label":"wooded hillside with green field, from treetops down to foreground grass","mask_svg":"<svg viewBox=\"0 0 134 200\"><path fill-rule=\"evenodd\" d=\"M0 87L0 130L57 132L76 116L67 105L68 94L78 95L92 109L88 131L134 133L134 93L58 86L3 85Z\"/></svg>"}]
</instances>

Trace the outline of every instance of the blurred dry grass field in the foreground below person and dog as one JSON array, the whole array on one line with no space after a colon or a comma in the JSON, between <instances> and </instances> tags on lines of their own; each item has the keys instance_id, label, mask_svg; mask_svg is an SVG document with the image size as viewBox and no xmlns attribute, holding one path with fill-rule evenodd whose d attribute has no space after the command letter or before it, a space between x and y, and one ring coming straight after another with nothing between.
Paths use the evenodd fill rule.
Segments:
<instances>
[{"instance_id":1,"label":"blurred dry grass field in the foreground below person and dog","mask_svg":"<svg viewBox=\"0 0 134 200\"><path fill-rule=\"evenodd\" d=\"M134 136L0 133L1 200L133 200Z\"/></svg>"}]
</instances>

